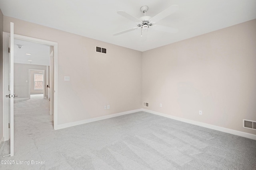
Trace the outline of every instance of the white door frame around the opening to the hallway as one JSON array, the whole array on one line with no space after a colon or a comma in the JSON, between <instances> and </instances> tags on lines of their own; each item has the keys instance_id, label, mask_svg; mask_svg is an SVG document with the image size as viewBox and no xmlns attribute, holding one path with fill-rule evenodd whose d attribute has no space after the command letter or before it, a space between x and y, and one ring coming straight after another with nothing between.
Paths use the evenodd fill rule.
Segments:
<instances>
[{"instance_id":1,"label":"white door frame around the opening to the hallway","mask_svg":"<svg viewBox=\"0 0 256 170\"><path fill-rule=\"evenodd\" d=\"M9 112L8 112L8 107L9 104L8 102L6 102L5 100L5 92L6 90L8 91L8 85L9 82L6 81L9 76L9 71L7 71L6 69L8 68L8 57L9 57L9 53L8 53L8 47L9 47L9 39L10 39L10 33L6 33L3 32L3 111L4 111L4 141L8 141L10 139L10 134L9 134L9 128L8 128L8 123L10 122L9 120ZM58 129L58 43L54 42L54 41L48 41L48 40L44 40L44 39L38 39L38 38L33 38L33 37L27 37L24 35L18 35L18 34L14 34L14 39L21 39L21 40L25 40L25 41L33 41L36 43L43 43L43 44L47 44L50 46L53 46L54 48L54 57L53 57L53 84L54 84L54 94L53 94L53 128L54 130ZM49 51L50 53L50 51ZM50 73L51 74L51 73ZM7 109L7 110L6 110Z\"/></svg>"}]
</instances>

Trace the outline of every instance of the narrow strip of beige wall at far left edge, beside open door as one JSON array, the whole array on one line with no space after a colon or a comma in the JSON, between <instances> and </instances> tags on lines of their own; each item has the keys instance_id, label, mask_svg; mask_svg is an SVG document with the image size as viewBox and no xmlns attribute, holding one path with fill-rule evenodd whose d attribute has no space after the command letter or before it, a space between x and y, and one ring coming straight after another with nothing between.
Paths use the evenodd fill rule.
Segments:
<instances>
[{"instance_id":1,"label":"narrow strip of beige wall at far left edge, beside open door","mask_svg":"<svg viewBox=\"0 0 256 170\"><path fill-rule=\"evenodd\" d=\"M0 9L0 80L3 80L3 18L4 16ZM2 98L4 94L2 89L3 89L3 83L1 81L0 83L0 141L4 136L4 133L3 133L4 114L3 114L3 98Z\"/></svg>"}]
</instances>

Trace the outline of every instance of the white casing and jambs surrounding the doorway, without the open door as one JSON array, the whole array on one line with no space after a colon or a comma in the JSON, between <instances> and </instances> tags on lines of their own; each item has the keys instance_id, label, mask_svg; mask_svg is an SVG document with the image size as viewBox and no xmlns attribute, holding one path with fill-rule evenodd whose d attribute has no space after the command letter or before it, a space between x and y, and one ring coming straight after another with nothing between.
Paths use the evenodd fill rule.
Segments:
<instances>
[{"instance_id":1,"label":"white casing and jambs surrounding the doorway, without the open door","mask_svg":"<svg viewBox=\"0 0 256 170\"><path fill-rule=\"evenodd\" d=\"M10 62L8 60L8 48L9 48L9 44L10 44L10 33L3 33L3 37L4 37L4 93L8 92L8 77L9 77L9 71L8 71L8 62ZM52 96L52 100L50 101L50 107L52 109L52 111L50 111L50 113L52 113L53 115L53 128L54 130L57 130L57 101L58 101L58 85L57 85L57 66L58 66L58 43L53 42L53 41L47 41L47 40L43 40L43 39L36 39L33 37L26 37L23 35L16 35L14 34L14 39L20 39L20 40L24 40L24 41L32 41L32 42L36 42L36 43L42 43L42 44L46 44L46 45L50 45L50 47L52 48L52 51L49 51L49 55L51 56L50 58L50 63L52 64L50 67L52 69L50 69L50 79L52 81L50 84L51 88L51 92L50 95ZM7 94L7 93L6 93ZM9 134L9 122L10 122L10 118L9 118L9 110L8 110L8 102L7 100L4 100L4 141L8 141L10 139L10 134Z\"/></svg>"}]
</instances>

